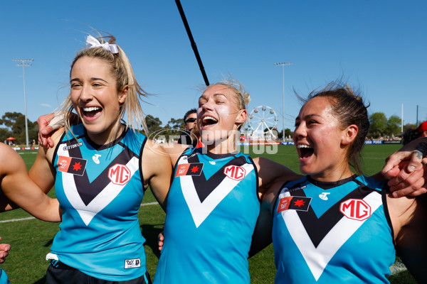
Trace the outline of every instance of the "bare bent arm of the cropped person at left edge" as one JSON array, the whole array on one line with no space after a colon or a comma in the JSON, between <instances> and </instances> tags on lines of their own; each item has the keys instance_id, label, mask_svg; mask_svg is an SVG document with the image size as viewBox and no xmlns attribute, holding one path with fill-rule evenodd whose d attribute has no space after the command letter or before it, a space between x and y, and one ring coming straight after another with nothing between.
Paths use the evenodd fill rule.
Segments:
<instances>
[{"instance_id":1,"label":"bare bent arm of the cropped person at left edge","mask_svg":"<svg viewBox=\"0 0 427 284\"><path fill-rule=\"evenodd\" d=\"M58 200L48 197L28 177L26 165L18 153L3 143L0 151L1 190L6 197L38 219L59 222Z\"/></svg>"}]
</instances>

